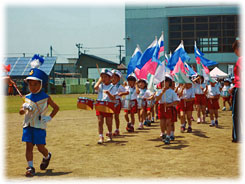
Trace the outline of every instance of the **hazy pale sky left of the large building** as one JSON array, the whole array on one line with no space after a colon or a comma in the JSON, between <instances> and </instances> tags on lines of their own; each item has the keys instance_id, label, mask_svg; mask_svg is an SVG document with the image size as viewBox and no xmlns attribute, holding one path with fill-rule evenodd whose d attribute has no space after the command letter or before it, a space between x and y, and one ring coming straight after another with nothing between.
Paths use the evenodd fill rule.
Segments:
<instances>
[{"instance_id":1,"label":"hazy pale sky left of the large building","mask_svg":"<svg viewBox=\"0 0 245 184\"><path fill-rule=\"evenodd\" d=\"M124 8L117 4L7 5L4 56L47 55L52 46L54 56L74 58L80 43L86 54L119 62L116 46L125 45Z\"/></svg>"}]
</instances>

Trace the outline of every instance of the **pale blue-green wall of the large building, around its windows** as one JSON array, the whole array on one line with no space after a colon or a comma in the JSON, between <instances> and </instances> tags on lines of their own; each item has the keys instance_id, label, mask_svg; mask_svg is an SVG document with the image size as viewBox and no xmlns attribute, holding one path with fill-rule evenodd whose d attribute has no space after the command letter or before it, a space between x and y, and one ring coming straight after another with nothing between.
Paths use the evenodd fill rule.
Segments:
<instances>
[{"instance_id":1,"label":"pale blue-green wall of the large building, around its windows","mask_svg":"<svg viewBox=\"0 0 245 184\"><path fill-rule=\"evenodd\" d=\"M125 7L125 40L126 65L128 64L136 45L139 44L142 52L151 44L155 36L160 36L164 31L165 51L168 47L168 17L178 16L205 16L205 15L239 15L240 10L233 6L127 6ZM178 45L176 45L177 47ZM172 51L173 52L173 51ZM193 53L190 63L195 63ZM235 64L237 57L234 53L207 53L205 57L218 63ZM227 72L227 65L222 66Z\"/></svg>"}]
</instances>

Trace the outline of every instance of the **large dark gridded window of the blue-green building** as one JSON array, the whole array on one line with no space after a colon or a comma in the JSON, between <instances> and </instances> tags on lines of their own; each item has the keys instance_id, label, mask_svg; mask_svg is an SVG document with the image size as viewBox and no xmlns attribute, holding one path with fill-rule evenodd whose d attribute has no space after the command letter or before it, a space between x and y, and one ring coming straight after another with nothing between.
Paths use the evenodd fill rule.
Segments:
<instances>
[{"instance_id":1,"label":"large dark gridded window of the blue-green building","mask_svg":"<svg viewBox=\"0 0 245 184\"><path fill-rule=\"evenodd\" d=\"M170 17L169 49L174 51L183 40L185 50L191 53L194 41L202 52L233 52L238 23L237 15Z\"/></svg>"}]
</instances>

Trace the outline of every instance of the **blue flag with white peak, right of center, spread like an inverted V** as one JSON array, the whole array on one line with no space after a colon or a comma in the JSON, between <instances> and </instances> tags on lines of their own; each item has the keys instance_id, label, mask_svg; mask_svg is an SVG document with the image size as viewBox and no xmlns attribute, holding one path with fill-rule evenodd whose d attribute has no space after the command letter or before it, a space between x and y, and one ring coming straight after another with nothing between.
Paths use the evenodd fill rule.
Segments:
<instances>
[{"instance_id":1,"label":"blue flag with white peak, right of center, spread like an inverted V","mask_svg":"<svg viewBox=\"0 0 245 184\"><path fill-rule=\"evenodd\" d=\"M168 60L168 64L167 67L172 71L176 65L176 63L178 62L179 58L181 58L181 60L183 62L185 61L189 61L191 58L188 56L188 54L185 52L185 48L184 48L184 43L181 40L181 43L179 44L179 46L175 49L173 55L171 56L171 58Z\"/></svg>"}]
</instances>

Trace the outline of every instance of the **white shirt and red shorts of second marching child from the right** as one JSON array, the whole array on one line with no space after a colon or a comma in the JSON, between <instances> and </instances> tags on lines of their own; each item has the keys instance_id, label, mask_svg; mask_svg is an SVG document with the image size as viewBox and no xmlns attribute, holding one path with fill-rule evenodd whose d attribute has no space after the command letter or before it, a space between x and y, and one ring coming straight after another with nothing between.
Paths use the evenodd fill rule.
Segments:
<instances>
[{"instance_id":1,"label":"white shirt and red shorts of second marching child from the right","mask_svg":"<svg viewBox=\"0 0 245 184\"><path fill-rule=\"evenodd\" d=\"M211 85L208 85L208 109L219 109L219 99L215 98L212 99L212 96L220 95L220 91L218 86L212 87Z\"/></svg>"}]
</instances>

